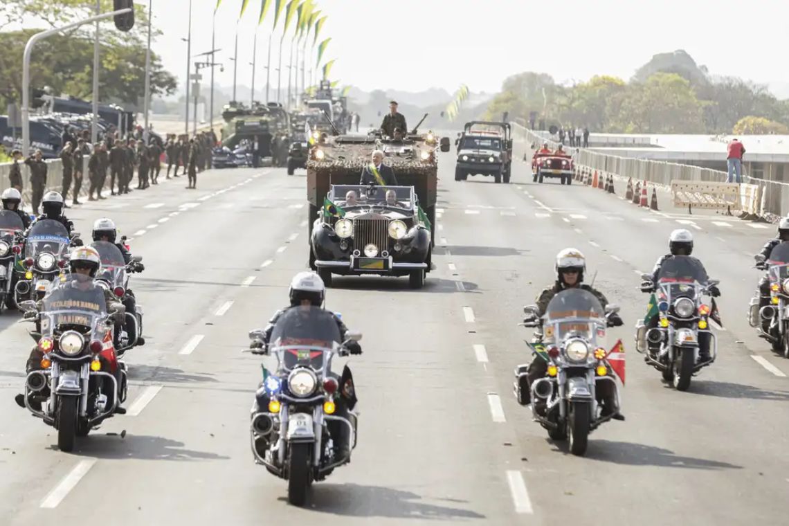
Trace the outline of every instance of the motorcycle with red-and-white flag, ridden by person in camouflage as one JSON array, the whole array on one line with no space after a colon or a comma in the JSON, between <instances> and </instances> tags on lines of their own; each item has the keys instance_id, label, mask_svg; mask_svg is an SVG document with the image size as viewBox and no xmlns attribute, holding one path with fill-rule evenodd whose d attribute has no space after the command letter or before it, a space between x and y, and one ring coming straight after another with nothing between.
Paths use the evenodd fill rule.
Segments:
<instances>
[{"instance_id":1,"label":"motorcycle with red-and-white flag, ridden by person in camouflage","mask_svg":"<svg viewBox=\"0 0 789 526\"><path fill-rule=\"evenodd\" d=\"M605 360L608 351L602 346L605 330L613 326L609 319L619 307L609 304L605 309L600 300L584 289L565 289L555 295L544 316L537 318L537 307L524 308L526 318L522 326L541 327L534 333L536 341L529 346L536 352L535 360L548 363L548 375L532 382L531 400L533 420L548 430L554 440L570 438L570 452L585 454L589 433L596 430L614 414L603 416L597 402L596 390L602 382L610 382L617 407L619 386ZM516 369L516 395L527 375L526 366ZM544 401L544 415L537 410L536 401Z\"/></svg>"}]
</instances>

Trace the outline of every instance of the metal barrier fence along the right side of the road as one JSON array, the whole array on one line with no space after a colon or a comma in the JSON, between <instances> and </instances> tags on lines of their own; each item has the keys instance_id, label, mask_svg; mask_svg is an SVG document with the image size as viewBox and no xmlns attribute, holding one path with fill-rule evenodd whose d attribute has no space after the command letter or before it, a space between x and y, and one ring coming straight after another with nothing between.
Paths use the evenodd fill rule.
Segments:
<instances>
[{"instance_id":1,"label":"metal barrier fence along the right side of the road","mask_svg":"<svg viewBox=\"0 0 789 526\"><path fill-rule=\"evenodd\" d=\"M516 140L529 144L547 142L548 147L558 147L559 143L546 140L522 125L512 123L513 136ZM675 162L618 157L589 151L584 148L568 148L572 153L576 166L589 170L611 173L619 177L632 177L634 181L647 181L654 185L671 188L672 181L725 183L727 173L711 170L701 166L691 166ZM741 208L750 215L771 218L770 216L789 215L789 184L778 181L767 181L757 177L742 176L740 188ZM747 188L749 186L756 188ZM772 218L771 218L772 219Z\"/></svg>"}]
</instances>

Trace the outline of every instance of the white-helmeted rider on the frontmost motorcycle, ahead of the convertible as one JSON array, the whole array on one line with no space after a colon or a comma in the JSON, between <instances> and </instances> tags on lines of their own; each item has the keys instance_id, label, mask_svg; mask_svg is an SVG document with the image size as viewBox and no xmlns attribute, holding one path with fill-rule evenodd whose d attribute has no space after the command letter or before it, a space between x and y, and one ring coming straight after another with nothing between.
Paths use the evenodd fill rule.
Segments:
<instances>
[{"instance_id":1,"label":"white-helmeted rider on the frontmost motorcycle, ahead of the convertible","mask_svg":"<svg viewBox=\"0 0 789 526\"><path fill-rule=\"evenodd\" d=\"M318 274L314 272L299 272L290 282L289 296L290 307L282 308L279 311L276 311L273 316L271 316L271 319L268 321L268 325L264 330L264 340L253 341L252 345L250 345L252 349L265 348L265 345L269 343L271 332L274 330L277 319L279 319L279 316L281 316L283 312L290 308L322 307L323 299L326 296L326 287L323 285L323 280L320 278L320 276L318 276ZM331 314L335 317L337 328L339 329L342 341L347 341L348 329L345 326L345 323L342 323L342 320L338 315L334 313ZM359 345L357 341L349 341L346 344L346 348L351 354L361 354L361 345ZM338 375L335 373L330 374L338 381L339 384L338 392L340 396L338 396L335 401L335 414L337 416L343 416L347 418L348 410L353 409L353 406L356 405L357 402L357 397L353 386L353 375L351 375L350 368L347 365L342 371L342 376L338 377ZM256 391L255 400L256 405L254 408L252 408L252 414L255 412L268 411L269 397L262 382ZM335 441L335 455L339 458L345 457L350 450L350 436L345 424L333 421L327 425L329 427L329 432ZM259 452L262 453L264 450L267 450L268 444L264 441L264 443L256 444L256 446L260 446Z\"/></svg>"}]
</instances>

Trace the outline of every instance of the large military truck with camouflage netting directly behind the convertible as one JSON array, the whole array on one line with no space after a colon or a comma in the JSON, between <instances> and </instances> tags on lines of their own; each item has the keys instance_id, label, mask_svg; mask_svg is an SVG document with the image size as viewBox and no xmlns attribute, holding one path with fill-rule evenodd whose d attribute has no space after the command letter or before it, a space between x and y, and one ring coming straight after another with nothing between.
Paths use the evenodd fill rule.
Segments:
<instances>
[{"instance_id":1,"label":"large military truck with camouflage netting directly behind the convertible","mask_svg":"<svg viewBox=\"0 0 789 526\"><path fill-rule=\"evenodd\" d=\"M425 115L427 117L427 115ZM424 118L422 119L424 121ZM413 186L419 206L428 217L431 237L436 237L436 197L438 157L436 149L449 151L448 137L432 133L417 134L417 127L401 141L383 140L380 132L369 135L346 134L329 136L324 144L315 144L307 160L307 237L312 222L323 210L323 199L330 185L357 185L362 170L369 166L373 150L381 150L391 166L399 186ZM432 242L435 245L435 242ZM310 253L310 267L315 270Z\"/></svg>"}]
</instances>

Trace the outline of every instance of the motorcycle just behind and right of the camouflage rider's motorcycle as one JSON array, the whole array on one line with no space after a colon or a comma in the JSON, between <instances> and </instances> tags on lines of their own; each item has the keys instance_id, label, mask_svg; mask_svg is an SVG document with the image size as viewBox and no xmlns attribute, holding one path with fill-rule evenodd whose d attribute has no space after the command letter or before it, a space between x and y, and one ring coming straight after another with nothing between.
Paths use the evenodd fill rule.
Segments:
<instances>
[{"instance_id":1,"label":"motorcycle just behind and right of the camouflage rider's motorcycle","mask_svg":"<svg viewBox=\"0 0 789 526\"><path fill-rule=\"evenodd\" d=\"M636 349L644 360L663 373L676 390L685 391L690 379L715 361L718 339L709 321L719 326L720 315L711 289L720 283L709 279L704 267L690 256L671 256L660 267L657 283L650 274L641 274L642 291L655 290L650 299L646 319L636 323ZM705 303L705 296L710 303ZM649 328L647 322L656 316L657 326ZM709 357L700 359L700 344L709 342ZM656 350L650 350L647 343Z\"/></svg>"}]
</instances>

